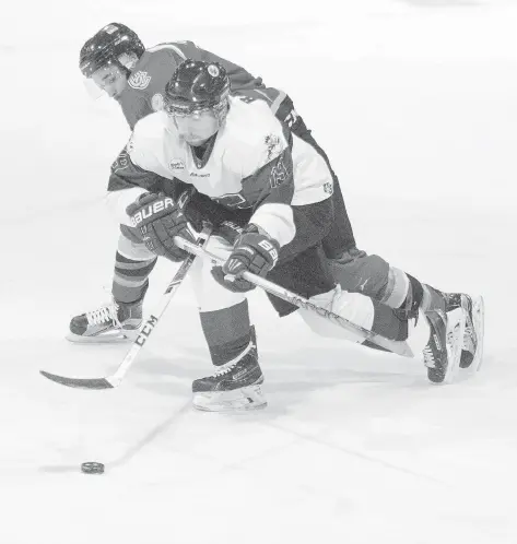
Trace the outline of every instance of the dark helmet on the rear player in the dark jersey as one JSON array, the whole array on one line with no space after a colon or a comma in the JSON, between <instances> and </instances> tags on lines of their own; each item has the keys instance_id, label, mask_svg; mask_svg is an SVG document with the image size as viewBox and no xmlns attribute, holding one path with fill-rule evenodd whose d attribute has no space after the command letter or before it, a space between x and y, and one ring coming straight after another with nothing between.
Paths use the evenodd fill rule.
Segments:
<instances>
[{"instance_id":1,"label":"dark helmet on the rear player in the dark jersey","mask_svg":"<svg viewBox=\"0 0 517 544\"><path fill-rule=\"evenodd\" d=\"M120 23L110 23L101 28L81 48L79 68L81 72L90 78L94 72L108 64L122 66L119 58L121 55L136 55L140 58L145 47L137 33Z\"/></svg>"}]
</instances>

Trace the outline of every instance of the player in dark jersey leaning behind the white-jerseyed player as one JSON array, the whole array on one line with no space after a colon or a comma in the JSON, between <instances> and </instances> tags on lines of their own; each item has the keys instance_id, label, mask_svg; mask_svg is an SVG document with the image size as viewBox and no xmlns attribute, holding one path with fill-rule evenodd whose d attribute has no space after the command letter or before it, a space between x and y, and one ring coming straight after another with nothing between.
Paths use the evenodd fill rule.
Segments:
<instances>
[{"instance_id":1,"label":"player in dark jersey leaning behind the white-jerseyed player","mask_svg":"<svg viewBox=\"0 0 517 544\"><path fill-rule=\"evenodd\" d=\"M393 303L389 300L393 297L391 287L400 283L396 269L390 268L380 257L367 256L355 248L354 235L336 174L303 118L295 111L289 95L280 90L267 87L260 78L255 78L243 67L201 49L192 42L160 44L145 50L138 35L120 23L104 26L84 44L80 55L80 68L86 78L120 104L122 114L132 129L139 119L162 109L165 84L178 63L187 56L195 60L222 63L231 80L232 93L245 100L265 100L278 119L285 122L297 137L324 157L333 178L331 198L334 221L322 240L332 274L343 289L364 293L378 304L392 306ZM118 185L116 174L125 161L122 153L115 163L109 182L110 190ZM142 255L131 258L126 248L131 244L132 234L124 225L121 230L115 262L113 304L73 318L69 340L125 340L131 338L141 324L143 297L156 259ZM397 296L396 293L396 303ZM472 309L470 298L467 297L466 300ZM458 304L458 297L451 295L449 304ZM399 311L398 315L404 327L406 312ZM468 331L473 331L472 311L468 312L467 319L470 323ZM473 360L473 345L472 339L466 334L460 366L467 367Z\"/></svg>"}]
</instances>

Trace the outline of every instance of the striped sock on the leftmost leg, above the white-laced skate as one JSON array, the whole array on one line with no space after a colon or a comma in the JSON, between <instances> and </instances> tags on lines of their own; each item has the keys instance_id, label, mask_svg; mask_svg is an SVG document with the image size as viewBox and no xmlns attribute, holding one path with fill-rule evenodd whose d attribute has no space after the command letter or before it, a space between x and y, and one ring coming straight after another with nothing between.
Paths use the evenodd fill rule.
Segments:
<instances>
[{"instance_id":1,"label":"striped sock on the leftmost leg, above the white-laced skate","mask_svg":"<svg viewBox=\"0 0 517 544\"><path fill-rule=\"evenodd\" d=\"M156 264L156 259L136 261L117 251L111 293L119 303L134 303L145 295L149 287L149 274Z\"/></svg>"}]
</instances>

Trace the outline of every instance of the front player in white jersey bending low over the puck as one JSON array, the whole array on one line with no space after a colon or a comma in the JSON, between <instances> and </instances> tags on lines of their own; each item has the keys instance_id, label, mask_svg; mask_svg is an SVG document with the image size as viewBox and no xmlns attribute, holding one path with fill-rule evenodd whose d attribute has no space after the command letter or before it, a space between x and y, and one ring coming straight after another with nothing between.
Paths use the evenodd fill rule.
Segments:
<instances>
[{"instance_id":1,"label":"front player in white jersey bending low over the puck","mask_svg":"<svg viewBox=\"0 0 517 544\"><path fill-rule=\"evenodd\" d=\"M228 92L222 66L184 61L166 86L164 111L137 123L109 194L118 221L132 229L132 250L140 255L185 259L174 237L193 240L192 225L200 218L209 218L220 234L211 239L211 249L225 256L224 267L211 269L197 260L191 270L201 326L216 367L213 375L193 381L195 405L221 411L266 403L245 296L252 285L242 277L245 271L393 340L411 341L408 318L416 320L421 312L420 327L428 330L421 346L428 379L450 381L461 355L466 297L457 294L451 304L439 291L395 269L390 307L341 291L321 246L333 214L332 176L326 162L286 130L265 103L248 103ZM207 201L232 213L243 230L235 234L230 228L228 236L224 216L211 214ZM271 301L281 316L297 309L274 297ZM314 314L299 312L320 334L362 342ZM473 354L479 357L480 324L475 332Z\"/></svg>"}]
</instances>

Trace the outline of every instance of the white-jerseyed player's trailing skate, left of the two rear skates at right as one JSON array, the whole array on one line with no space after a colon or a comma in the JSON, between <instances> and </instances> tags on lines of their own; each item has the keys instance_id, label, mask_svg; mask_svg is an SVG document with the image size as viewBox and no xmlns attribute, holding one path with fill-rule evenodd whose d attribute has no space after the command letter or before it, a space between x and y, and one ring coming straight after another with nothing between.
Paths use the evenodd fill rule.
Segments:
<instances>
[{"instance_id":1,"label":"white-jerseyed player's trailing skate, left of the two rear skates at right","mask_svg":"<svg viewBox=\"0 0 517 544\"><path fill-rule=\"evenodd\" d=\"M427 378L433 383L450 383L458 370L465 334L465 311L461 306L449 306L445 314L433 310L425 314L430 340L423 350Z\"/></svg>"}]
</instances>

